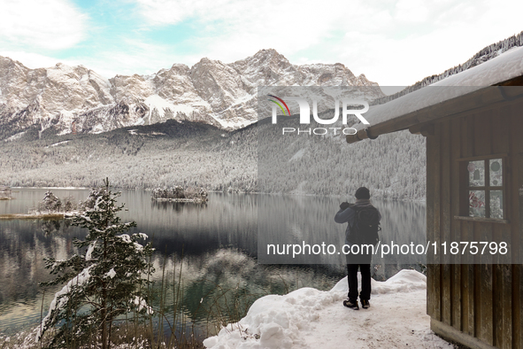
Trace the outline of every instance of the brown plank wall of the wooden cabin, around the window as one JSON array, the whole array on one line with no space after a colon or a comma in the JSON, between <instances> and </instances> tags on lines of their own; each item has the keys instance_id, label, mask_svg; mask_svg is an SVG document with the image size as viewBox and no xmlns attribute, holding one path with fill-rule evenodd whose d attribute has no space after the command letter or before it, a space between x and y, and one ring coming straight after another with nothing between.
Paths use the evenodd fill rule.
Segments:
<instances>
[{"instance_id":1,"label":"brown plank wall of the wooden cabin, around the window","mask_svg":"<svg viewBox=\"0 0 523 349\"><path fill-rule=\"evenodd\" d=\"M455 219L459 215L457 159L495 153L508 154L504 163L508 223ZM522 220L523 104L496 105L436 122L434 136L427 136L427 240L485 241L481 237L494 234L523 257ZM456 256L457 263L460 258L467 257ZM437 257L434 262L427 265L427 314L432 319L483 344L523 349L520 264L437 264L442 263Z\"/></svg>"}]
</instances>

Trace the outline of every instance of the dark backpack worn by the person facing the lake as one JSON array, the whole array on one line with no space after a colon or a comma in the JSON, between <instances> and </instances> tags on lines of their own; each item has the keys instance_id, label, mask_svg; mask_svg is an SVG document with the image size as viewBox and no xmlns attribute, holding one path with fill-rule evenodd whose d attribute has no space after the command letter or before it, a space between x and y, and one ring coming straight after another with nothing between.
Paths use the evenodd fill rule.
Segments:
<instances>
[{"instance_id":1,"label":"dark backpack worn by the person facing the lake","mask_svg":"<svg viewBox=\"0 0 523 349\"><path fill-rule=\"evenodd\" d=\"M355 211L354 224L350 227L350 243L376 246L380 242L378 231L381 230L380 213L376 207L353 205L350 208Z\"/></svg>"}]
</instances>

